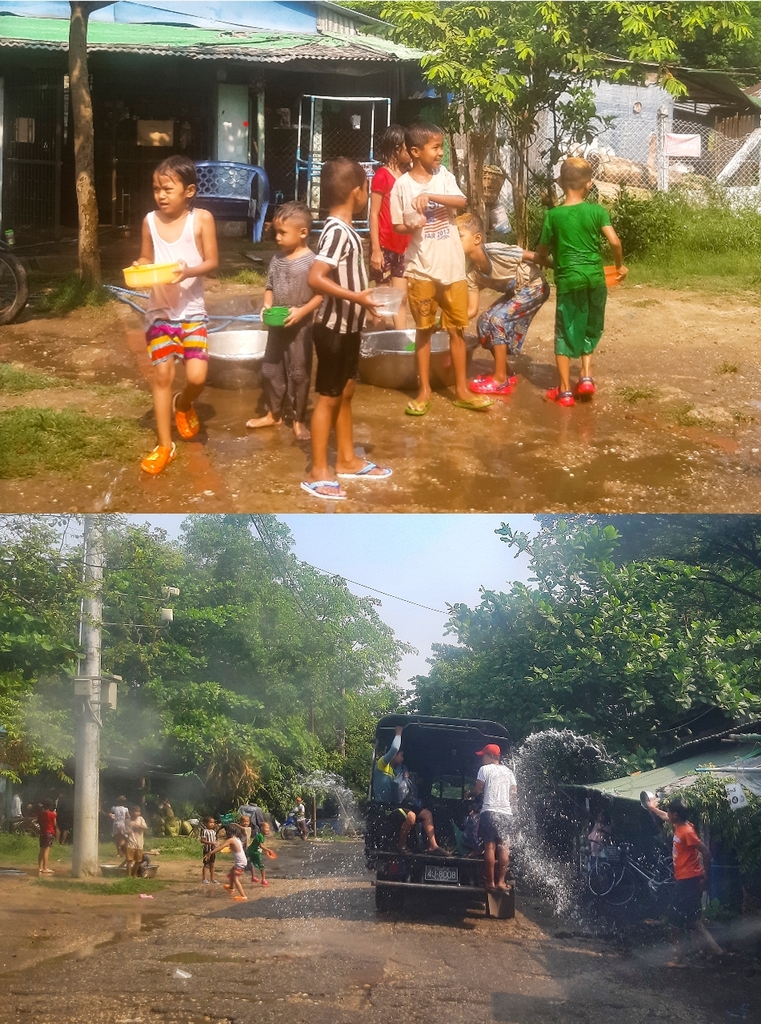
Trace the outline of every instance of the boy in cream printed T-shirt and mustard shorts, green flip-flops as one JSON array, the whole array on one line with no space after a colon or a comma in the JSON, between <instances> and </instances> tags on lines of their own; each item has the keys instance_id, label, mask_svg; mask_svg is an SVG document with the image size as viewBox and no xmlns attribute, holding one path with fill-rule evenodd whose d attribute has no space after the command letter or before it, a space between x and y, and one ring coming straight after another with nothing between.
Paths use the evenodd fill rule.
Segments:
<instances>
[{"instance_id":1,"label":"boy in cream printed T-shirt and mustard shorts, green flip-flops","mask_svg":"<svg viewBox=\"0 0 761 1024\"><path fill-rule=\"evenodd\" d=\"M455 404L461 409L488 409L492 401L468 390L464 329L468 326L468 285L465 254L455 221L465 206L465 196L455 176L441 167L443 133L436 125L421 122L405 132L412 169L396 179L390 209L394 230L410 234L405 256L405 278L410 311L415 321L415 355L420 378L417 397L405 412L425 416L430 409L430 340L441 309L441 327L450 335L455 370Z\"/></svg>"}]
</instances>

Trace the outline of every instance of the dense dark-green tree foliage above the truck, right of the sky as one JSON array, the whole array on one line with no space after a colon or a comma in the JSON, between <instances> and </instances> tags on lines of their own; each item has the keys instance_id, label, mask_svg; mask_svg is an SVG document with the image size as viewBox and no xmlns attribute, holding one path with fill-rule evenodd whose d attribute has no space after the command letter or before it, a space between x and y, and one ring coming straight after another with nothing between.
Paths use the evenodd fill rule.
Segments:
<instances>
[{"instance_id":1,"label":"dense dark-green tree foliage above the truck, right of the sky","mask_svg":"<svg viewBox=\"0 0 761 1024\"><path fill-rule=\"evenodd\" d=\"M518 740L552 727L589 733L636 768L714 709L761 711L759 618L727 615L700 565L617 562L609 524L556 519L533 538L498 532L527 555L530 585L451 607L457 644L434 647L418 677L421 712L494 718Z\"/></svg>"}]
</instances>

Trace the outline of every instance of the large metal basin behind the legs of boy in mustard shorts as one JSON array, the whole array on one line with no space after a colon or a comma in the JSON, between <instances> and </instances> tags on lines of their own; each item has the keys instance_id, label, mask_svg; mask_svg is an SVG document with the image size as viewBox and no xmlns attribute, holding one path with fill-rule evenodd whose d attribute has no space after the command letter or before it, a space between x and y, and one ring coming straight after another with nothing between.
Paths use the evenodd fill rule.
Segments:
<instances>
[{"instance_id":1,"label":"large metal basin behind the legs of boy in mustard shorts","mask_svg":"<svg viewBox=\"0 0 761 1024\"><path fill-rule=\"evenodd\" d=\"M468 368L476 338L466 338ZM360 378L376 387L412 390L418 386L415 364L414 331L369 331L362 336L360 349ZM447 331L436 331L431 336L431 384L449 387L455 383L455 372L450 355L450 336Z\"/></svg>"}]
</instances>

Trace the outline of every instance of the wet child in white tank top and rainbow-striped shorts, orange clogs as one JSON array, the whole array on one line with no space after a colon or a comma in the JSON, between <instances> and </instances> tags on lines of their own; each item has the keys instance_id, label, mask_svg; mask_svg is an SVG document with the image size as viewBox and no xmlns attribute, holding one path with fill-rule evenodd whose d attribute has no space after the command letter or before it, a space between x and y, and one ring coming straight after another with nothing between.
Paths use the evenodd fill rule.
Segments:
<instances>
[{"instance_id":1,"label":"wet child in white tank top and rainbow-striped shorts, orange clogs","mask_svg":"<svg viewBox=\"0 0 761 1024\"><path fill-rule=\"evenodd\" d=\"M153 392L159 443L140 463L153 476L177 455L172 440L172 414L177 431L191 440L200 429L193 408L206 384L208 369L204 274L219 262L214 218L194 210L198 179L188 157L167 157L154 171L157 209L142 222L141 263L178 263L170 285L155 285L147 302L145 341L154 368ZM185 386L172 395L174 359L185 365Z\"/></svg>"}]
</instances>

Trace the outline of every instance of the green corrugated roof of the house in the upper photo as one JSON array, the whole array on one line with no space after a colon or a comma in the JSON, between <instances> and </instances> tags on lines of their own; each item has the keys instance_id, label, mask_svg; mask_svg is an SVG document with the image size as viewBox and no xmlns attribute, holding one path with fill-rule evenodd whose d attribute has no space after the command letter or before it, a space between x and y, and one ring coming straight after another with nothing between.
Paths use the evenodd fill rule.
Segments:
<instances>
[{"instance_id":1,"label":"green corrugated roof of the house in the upper photo","mask_svg":"<svg viewBox=\"0 0 761 1024\"><path fill-rule=\"evenodd\" d=\"M69 22L62 18L0 15L0 46L66 49ZM399 43L371 35L307 35L263 31L217 32L175 25L123 25L91 22L88 48L93 51L176 53L193 57L293 60L418 60L421 54Z\"/></svg>"}]
</instances>

